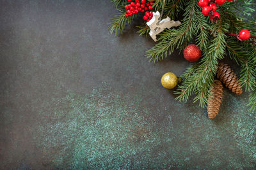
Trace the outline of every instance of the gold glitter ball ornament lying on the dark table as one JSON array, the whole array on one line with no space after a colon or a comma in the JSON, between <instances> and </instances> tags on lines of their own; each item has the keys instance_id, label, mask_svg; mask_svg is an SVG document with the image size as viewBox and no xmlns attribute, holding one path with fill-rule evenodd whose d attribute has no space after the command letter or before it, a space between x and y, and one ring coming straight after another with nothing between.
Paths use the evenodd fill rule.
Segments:
<instances>
[{"instance_id":1,"label":"gold glitter ball ornament lying on the dark table","mask_svg":"<svg viewBox=\"0 0 256 170\"><path fill-rule=\"evenodd\" d=\"M161 83L166 89L173 89L178 84L178 78L173 73L165 73L162 76Z\"/></svg>"}]
</instances>

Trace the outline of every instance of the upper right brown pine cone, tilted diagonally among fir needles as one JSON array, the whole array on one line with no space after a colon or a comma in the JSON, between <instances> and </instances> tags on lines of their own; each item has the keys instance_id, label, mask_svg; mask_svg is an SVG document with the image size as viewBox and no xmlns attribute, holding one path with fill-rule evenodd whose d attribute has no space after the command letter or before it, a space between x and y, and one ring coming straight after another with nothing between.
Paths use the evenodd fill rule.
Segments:
<instances>
[{"instance_id":1,"label":"upper right brown pine cone, tilted diagonally among fir needles","mask_svg":"<svg viewBox=\"0 0 256 170\"><path fill-rule=\"evenodd\" d=\"M217 78L231 90L234 94L240 95L243 93L240 82L236 76L236 73L228 66L228 64L220 63Z\"/></svg>"}]
</instances>

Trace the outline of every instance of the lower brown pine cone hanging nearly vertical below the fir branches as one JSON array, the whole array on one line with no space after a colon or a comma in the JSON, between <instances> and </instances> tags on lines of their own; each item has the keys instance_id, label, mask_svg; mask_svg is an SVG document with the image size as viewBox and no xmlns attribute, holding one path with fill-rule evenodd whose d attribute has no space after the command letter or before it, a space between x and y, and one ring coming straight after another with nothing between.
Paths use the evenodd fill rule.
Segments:
<instances>
[{"instance_id":1,"label":"lower brown pine cone hanging nearly vertical below the fir branches","mask_svg":"<svg viewBox=\"0 0 256 170\"><path fill-rule=\"evenodd\" d=\"M210 89L208 105L207 105L208 117L211 119L214 119L216 115L219 113L222 94L223 94L223 86L221 84L221 81L214 80L214 85L212 85Z\"/></svg>"}]
</instances>

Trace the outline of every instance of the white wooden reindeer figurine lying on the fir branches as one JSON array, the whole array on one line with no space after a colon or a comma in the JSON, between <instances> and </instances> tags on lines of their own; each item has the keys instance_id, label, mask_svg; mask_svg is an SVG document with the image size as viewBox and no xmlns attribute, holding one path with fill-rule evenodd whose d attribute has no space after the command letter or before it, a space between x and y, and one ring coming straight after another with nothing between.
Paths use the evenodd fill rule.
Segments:
<instances>
[{"instance_id":1,"label":"white wooden reindeer figurine lying on the fir branches","mask_svg":"<svg viewBox=\"0 0 256 170\"><path fill-rule=\"evenodd\" d=\"M157 41L156 35L159 34L160 32L164 31L164 29L168 28L170 29L171 27L177 27L181 23L178 21L171 20L169 17L161 20L160 18L160 13L159 11L153 12L153 18L147 22L147 25L150 27L150 36L154 41ZM161 20L159 22L159 20Z\"/></svg>"}]
</instances>

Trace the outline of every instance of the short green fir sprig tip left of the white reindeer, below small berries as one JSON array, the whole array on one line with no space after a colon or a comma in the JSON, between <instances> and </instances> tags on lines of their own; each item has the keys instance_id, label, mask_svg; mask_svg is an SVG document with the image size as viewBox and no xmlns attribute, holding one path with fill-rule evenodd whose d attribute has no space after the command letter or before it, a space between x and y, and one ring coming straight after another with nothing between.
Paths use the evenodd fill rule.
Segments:
<instances>
[{"instance_id":1,"label":"short green fir sprig tip left of the white reindeer, below small berries","mask_svg":"<svg viewBox=\"0 0 256 170\"><path fill-rule=\"evenodd\" d=\"M111 34L114 31L116 35L118 31L122 33L122 31L124 31L125 29L125 26L127 24L131 25L132 18L136 17L136 15L125 17L124 16L125 12L126 12L125 10L118 10L118 13L114 13L113 15L114 18L112 19L113 22L108 23L108 24L111 24L109 27Z\"/></svg>"}]
</instances>

